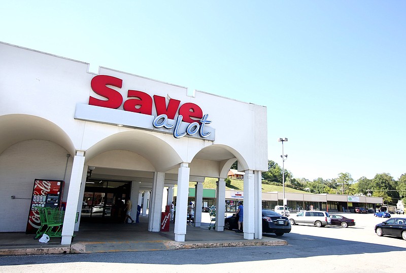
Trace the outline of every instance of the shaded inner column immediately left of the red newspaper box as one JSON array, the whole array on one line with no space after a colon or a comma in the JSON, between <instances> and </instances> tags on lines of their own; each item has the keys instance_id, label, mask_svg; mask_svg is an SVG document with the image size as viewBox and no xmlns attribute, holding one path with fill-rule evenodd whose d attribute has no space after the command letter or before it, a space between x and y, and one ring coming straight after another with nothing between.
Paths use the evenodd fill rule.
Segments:
<instances>
[{"instance_id":1,"label":"shaded inner column immediately left of the red newspaper box","mask_svg":"<svg viewBox=\"0 0 406 273\"><path fill-rule=\"evenodd\" d=\"M155 172L154 182L152 183L152 198L149 211L148 231L158 232L161 228L161 212L163 185L165 182L165 173Z\"/></svg>"}]
</instances>

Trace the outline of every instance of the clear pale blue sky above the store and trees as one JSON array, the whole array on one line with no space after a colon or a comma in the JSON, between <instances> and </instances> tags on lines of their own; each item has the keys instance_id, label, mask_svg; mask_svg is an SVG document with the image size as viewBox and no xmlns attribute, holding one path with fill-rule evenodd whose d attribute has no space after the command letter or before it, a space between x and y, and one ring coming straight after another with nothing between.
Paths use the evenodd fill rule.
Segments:
<instances>
[{"instance_id":1,"label":"clear pale blue sky above the store and trees","mask_svg":"<svg viewBox=\"0 0 406 273\"><path fill-rule=\"evenodd\" d=\"M293 177L406 173L405 1L3 1L0 25L94 72L267 106Z\"/></svg>"}]
</instances>

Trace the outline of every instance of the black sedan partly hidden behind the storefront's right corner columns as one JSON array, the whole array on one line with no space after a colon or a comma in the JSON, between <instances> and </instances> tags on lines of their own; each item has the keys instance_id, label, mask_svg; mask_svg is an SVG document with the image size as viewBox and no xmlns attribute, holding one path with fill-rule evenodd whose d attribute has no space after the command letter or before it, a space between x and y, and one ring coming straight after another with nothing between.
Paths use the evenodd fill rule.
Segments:
<instances>
[{"instance_id":1,"label":"black sedan partly hidden behind the storefront's right corner columns","mask_svg":"<svg viewBox=\"0 0 406 273\"><path fill-rule=\"evenodd\" d=\"M238 229L238 218L233 214L224 220L224 229ZM289 233L291 225L289 219L285 216L276 213L273 210L262 210L262 232L275 233L277 236L282 236L284 233Z\"/></svg>"}]
</instances>

